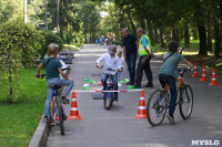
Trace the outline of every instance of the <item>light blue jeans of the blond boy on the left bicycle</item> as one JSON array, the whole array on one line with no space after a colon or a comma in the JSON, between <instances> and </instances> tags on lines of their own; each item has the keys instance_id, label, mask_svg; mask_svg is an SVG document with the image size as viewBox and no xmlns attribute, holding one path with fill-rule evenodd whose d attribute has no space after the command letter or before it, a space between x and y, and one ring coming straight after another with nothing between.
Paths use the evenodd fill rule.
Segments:
<instances>
[{"instance_id":1,"label":"light blue jeans of the blond boy on the left bicycle","mask_svg":"<svg viewBox=\"0 0 222 147\"><path fill-rule=\"evenodd\" d=\"M68 96L70 91L72 90L74 83L69 80L60 80L59 77L47 81L47 101L44 103L44 116L49 115L50 104L51 104L52 96L53 96L52 85L67 86L63 95Z\"/></svg>"}]
</instances>

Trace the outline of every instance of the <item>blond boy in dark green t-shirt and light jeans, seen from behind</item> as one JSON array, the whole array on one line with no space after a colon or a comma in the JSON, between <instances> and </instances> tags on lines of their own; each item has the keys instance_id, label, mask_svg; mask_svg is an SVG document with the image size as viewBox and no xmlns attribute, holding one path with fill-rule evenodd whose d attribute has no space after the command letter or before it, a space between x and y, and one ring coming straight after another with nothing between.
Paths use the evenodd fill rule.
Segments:
<instances>
[{"instance_id":1,"label":"blond boy in dark green t-shirt and light jeans, seen from behind","mask_svg":"<svg viewBox=\"0 0 222 147\"><path fill-rule=\"evenodd\" d=\"M52 95L53 95L53 85L59 85L59 86L67 86L64 90L64 93L62 94L62 103L69 104L69 99L65 98L65 96L69 95L71 88L73 87L73 81L69 80L68 76L62 72L62 64L61 62L57 59L59 45L58 44L50 44L48 46L48 52L50 56L47 56L43 59L42 63L39 64L38 66L38 72L37 72L37 77L40 76L40 70L46 66L46 75L47 75L47 99L44 104L44 117L42 118L43 122L47 122L48 115L49 115L49 109L50 109L50 104L52 101ZM59 74L64 78L61 80Z\"/></svg>"}]
</instances>

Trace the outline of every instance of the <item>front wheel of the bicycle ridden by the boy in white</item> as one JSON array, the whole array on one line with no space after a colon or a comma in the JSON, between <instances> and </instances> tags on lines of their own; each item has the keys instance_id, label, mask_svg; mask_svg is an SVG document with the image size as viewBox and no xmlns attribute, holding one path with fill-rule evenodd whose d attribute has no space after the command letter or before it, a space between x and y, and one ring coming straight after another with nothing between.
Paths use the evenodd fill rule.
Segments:
<instances>
[{"instance_id":1,"label":"front wheel of the bicycle ridden by the boy in white","mask_svg":"<svg viewBox=\"0 0 222 147\"><path fill-rule=\"evenodd\" d=\"M112 91L112 87L109 87L108 91ZM104 93L104 108L105 109L109 111L112 107L113 98L114 98L113 92L105 92Z\"/></svg>"}]
</instances>

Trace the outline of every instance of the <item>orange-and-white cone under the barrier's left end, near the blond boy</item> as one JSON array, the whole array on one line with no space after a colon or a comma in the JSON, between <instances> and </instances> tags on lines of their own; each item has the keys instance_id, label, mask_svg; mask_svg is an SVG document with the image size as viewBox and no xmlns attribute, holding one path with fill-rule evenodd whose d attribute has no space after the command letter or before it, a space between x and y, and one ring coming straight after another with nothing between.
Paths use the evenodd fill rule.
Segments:
<instances>
[{"instance_id":1,"label":"orange-and-white cone under the barrier's left end, near the blond boy","mask_svg":"<svg viewBox=\"0 0 222 147\"><path fill-rule=\"evenodd\" d=\"M75 92L72 92L70 116L67 119L68 120L82 119L82 117L79 115Z\"/></svg>"}]
</instances>

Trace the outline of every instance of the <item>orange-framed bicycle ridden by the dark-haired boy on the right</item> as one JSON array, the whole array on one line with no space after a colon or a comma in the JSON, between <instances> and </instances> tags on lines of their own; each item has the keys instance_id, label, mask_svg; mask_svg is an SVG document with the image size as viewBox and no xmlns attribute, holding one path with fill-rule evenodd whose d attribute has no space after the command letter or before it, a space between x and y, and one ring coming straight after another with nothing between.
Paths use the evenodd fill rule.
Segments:
<instances>
[{"instance_id":1,"label":"orange-framed bicycle ridden by the dark-haired boy on the right","mask_svg":"<svg viewBox=\"0 0 222 147\"><path fill-rule=\"evenodd\" d=\"M179 69L180 76L178 77L178 92L179 97L175 105L179 105L180 114L183 119L188 119L191 116L193 109L193 91L189 84L184 84L183 74L190 70ZM149 97L147 104L147 115L148 122L152 126L160 125L167 114L167 109L170 105L170 87L168 81L161 81L161 85L164 85L163 88L155 90ZM188 111L185 106L188 104Z\"/></svg>"}]
</instances>

